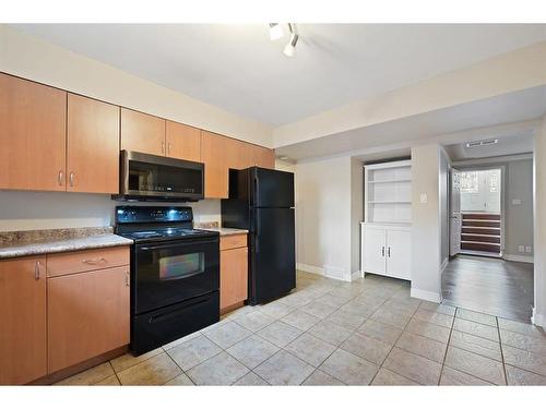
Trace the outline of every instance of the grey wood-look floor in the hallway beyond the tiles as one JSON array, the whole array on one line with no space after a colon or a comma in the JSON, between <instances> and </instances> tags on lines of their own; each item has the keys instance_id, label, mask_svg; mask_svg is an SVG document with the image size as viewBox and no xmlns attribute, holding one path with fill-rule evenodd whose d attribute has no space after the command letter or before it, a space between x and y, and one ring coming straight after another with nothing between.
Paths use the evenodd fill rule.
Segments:
<instances>
[{"instance_id":1,"label":"grey wood-look floor in the hallway beyond the tiles","mask_svg":"<svg viewBox=\"0 0 546 409\"><path fill-rule=\"evenodd\" d=\"M448 304L530 322L533 264L460 254L443 272L442 296Z\"/></svg>"}]
</instances>

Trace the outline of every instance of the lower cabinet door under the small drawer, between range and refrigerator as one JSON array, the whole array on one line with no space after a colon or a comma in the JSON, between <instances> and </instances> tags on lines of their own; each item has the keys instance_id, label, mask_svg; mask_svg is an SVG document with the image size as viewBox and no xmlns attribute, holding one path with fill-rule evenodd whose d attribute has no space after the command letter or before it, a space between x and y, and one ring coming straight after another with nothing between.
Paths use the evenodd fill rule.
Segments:
<instances>
[{"instance_id":1,"label":"lower cabinet door under the small drawer, between range and refrigerator","mask_svg":"<svg viewBox=\"0 0 546 409\"><path fill-rule=\"evenodd\" d=\"M248 249L219 252L219 309L248 298Z\"/></svg>"}]
</instances>

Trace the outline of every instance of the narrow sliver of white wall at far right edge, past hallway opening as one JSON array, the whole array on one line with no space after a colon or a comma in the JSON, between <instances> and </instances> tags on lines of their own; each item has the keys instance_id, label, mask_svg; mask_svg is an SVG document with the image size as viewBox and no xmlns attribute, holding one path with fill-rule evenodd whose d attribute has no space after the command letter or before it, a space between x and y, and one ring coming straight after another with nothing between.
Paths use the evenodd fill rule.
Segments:
<instances>
[{"instance_id":1,"label":"narrow sliver of white wall at far right edge, past hallway opening","mask_svg":"<svg viewBox=\"0 0 546 409\"><path fill-rule=\"evenodd\" d=\"M535 221L535 310L534 323L546 327L546 117L535 136L534 149L534 221Z\"/></svg>"}]
</instances>

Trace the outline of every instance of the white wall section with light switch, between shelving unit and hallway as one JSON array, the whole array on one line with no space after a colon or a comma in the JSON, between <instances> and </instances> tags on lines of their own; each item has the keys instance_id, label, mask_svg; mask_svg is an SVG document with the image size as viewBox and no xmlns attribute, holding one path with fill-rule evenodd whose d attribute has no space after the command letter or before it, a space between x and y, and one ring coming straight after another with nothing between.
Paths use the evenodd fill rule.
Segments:
<instances>
[{"instance_id":1,"label":"white wall section with light switch, between shelving unit and hallway","mask_svg":"<svg viewBox=\"0 0 546 409\"><path fill-rule=\"evenodd\" d=\"M439 145L412 148L412 297L435 302L441 293L439 170Z\"/></svg>"}]
</instances>

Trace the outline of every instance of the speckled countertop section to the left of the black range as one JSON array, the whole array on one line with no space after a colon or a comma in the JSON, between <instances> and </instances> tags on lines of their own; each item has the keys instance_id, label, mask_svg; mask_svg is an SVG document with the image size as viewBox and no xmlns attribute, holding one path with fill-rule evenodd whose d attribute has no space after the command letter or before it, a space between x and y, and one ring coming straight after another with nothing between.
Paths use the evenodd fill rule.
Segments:
<instances>
[{"instance_id":1,"label":"speckled countertop section to the left of the black range","mask_svg":"<svg viewBox=\"0 0 546 409\"><path fill-rule=\"evenodd\" d=\"M111 227L0 232L0 258L130 245L132 240L112 233Z\"/></svg>"}]
</instances>

